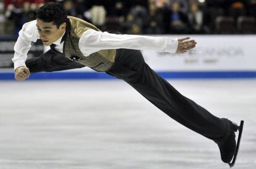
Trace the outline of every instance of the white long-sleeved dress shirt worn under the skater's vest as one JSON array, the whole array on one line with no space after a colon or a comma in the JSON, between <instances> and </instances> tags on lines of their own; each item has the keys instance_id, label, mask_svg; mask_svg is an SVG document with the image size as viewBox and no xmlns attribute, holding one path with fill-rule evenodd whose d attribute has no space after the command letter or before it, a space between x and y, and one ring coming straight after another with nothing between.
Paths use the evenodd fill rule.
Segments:
<instances>
[{"instance_id":1,"label":"white long-sleeved dress shirt worn under the skater's vest","mask_svg":"<svg viewBox=\"0 0 256 169\"><path fill-rule=\"evenodd\" d=\"M64 34L63 34L64 35ZM62 35L62 36L63 36ZM61 38L62 38L61 36ZM54 42L55 49L63 53L63 44L61 38ZM25 66L27 53L31 47L31 42L36 42L40 39L36 20L27 22L19 31L19 38L14 46L14 70L17 67ZM83 56L100 51L102 49L151 49L159 52L176 52L178 41L166 37L153 37L142 35L116 35L108 32L101 32L95 30L87 30L79 39L79 49Z\"/></svg>"}]
</instances>

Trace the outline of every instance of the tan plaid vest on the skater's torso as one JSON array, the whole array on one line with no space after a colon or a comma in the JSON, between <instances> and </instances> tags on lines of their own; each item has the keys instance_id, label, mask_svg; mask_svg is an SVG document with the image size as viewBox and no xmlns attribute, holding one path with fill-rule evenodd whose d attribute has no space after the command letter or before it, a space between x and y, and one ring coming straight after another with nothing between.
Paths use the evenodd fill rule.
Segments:
<instances>
[{"instance_id":1,"label":"tan plaid vest on the skater's torso","mask_svg":"<svg viewBox=\"0 0 256 169\"><path fill-rule=\"evenodd\" d=\"M105 72L114 63L116 57L115 49L106 49L90 54L90 56L83 56L79 49L79 39L83 32L89 29L100 31L94 25L85 22L84 20L76 17L68 17L69 22L67 23L66 39L64 41L64 54L75 62L85 65L87 67L96 70L97 72Z\"/></svg>"}]
</instances>

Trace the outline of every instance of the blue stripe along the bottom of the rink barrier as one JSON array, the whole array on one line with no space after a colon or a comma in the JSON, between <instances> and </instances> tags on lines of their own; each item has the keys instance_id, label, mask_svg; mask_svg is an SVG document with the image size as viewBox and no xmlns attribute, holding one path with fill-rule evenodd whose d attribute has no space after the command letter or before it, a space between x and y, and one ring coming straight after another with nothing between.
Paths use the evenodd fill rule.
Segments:
<instances>
[{"instance_id":1,"label":"blue stripe along the bottom of the rink barrier","mask_svg":"<svg viewBox=\"0 0 256 169\"><path fill-rule=\"evenodd\" d=\"M256 72L158 72L163 78L256 78ZM95 80L114 79L106 73L98 72L46 72L30 75L28 80ZM14 80L14 73L0 73L0 80Z\"/></svg>"}]
</instances>

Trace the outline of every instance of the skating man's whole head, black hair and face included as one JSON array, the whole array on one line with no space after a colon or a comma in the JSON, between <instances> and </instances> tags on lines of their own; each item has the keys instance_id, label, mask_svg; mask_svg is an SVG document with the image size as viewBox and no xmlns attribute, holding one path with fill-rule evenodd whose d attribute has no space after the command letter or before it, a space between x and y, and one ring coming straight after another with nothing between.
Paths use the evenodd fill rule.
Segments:
<instances>
[{"instance_id":1,"label":"skating man's whole head, black hair and face included","mask_svg":"<svg viewBox=\"0 0 256 169\"><path fill-rule=\"evenodd\" d=\"M46 46L51 45L63 35L67 26L67 12L56 2L41 6L36 14L36 27L40 39Z\"/></svg>"}]
</instances>

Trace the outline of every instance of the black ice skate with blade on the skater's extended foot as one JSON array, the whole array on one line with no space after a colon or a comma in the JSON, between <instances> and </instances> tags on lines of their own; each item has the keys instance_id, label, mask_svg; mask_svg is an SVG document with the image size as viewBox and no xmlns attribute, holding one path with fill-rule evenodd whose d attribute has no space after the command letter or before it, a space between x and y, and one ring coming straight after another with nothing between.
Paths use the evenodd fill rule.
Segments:
<instances>
[{"instance_id":1,"label":"black ice skate with blade on the skater's extended foot","mask_svg":"<svg viewBox=\"0 0 256 169\"><path fill-rule=\"evenodd\" d=\"M237 126L235 123L230 121L229 123L230 125L228 125L228 134L220 142L217 142L217 144L220 149L221 160L224 163L228 163L229 167L233 167L234 163L236 162L236 157L239 150L244 120L241 120L240 126ZM236 142L235 132L237 130L239 131L239 135Z\"/></svg>"}]
</instances>

